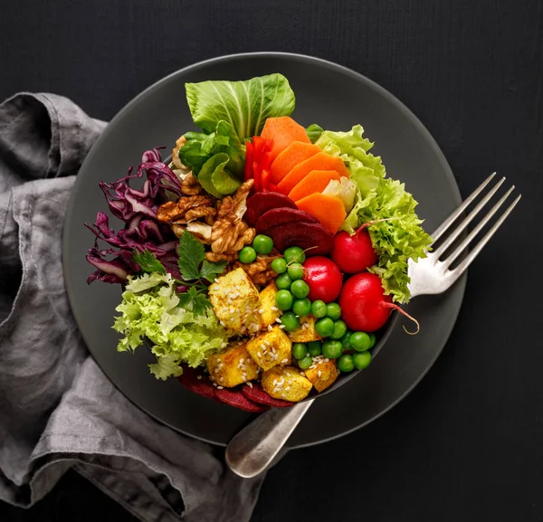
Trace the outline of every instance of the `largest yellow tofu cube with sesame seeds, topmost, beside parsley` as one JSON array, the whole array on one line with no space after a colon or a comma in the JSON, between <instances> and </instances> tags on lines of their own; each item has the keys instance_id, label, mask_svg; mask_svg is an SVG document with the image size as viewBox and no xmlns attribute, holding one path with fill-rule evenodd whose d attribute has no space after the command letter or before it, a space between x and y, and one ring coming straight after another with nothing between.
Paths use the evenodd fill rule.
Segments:
<instances>
[{"instance_id":1,"label":"largest yellow tofu cube with sesame seeds, topmost, beside parsley","mask_svg":"<svg viewBox=\"0 0 543 522\"><path fill-rule=\"evenodd\" d=\"M254 318L259 305L258 290L243 268L232 270L216 281L209 287L215 315L231 333L245 333L252 323L257 324ZM260 320L251 329L254 332L259 328Z\"/></svg>"}]
</instances>

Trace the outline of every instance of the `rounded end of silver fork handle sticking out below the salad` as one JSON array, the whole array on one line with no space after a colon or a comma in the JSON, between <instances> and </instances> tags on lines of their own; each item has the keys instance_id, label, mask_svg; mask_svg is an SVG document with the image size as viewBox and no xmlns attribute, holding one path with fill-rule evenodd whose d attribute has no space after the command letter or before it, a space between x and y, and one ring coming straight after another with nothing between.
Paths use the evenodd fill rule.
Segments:
<instances>
[{"instance_id":1,"label":"rounded end of silver fork handle sticking out below the salad","mask_svg":"<svg viewBox=\"0 0 543 522\"><path fill-rule=\"evenodd\" d=\"M244 479L262 473L288 441L313 400L290 408L271 408L245 426L226 447L228 467Z\"/></svg>"}]
</instances>

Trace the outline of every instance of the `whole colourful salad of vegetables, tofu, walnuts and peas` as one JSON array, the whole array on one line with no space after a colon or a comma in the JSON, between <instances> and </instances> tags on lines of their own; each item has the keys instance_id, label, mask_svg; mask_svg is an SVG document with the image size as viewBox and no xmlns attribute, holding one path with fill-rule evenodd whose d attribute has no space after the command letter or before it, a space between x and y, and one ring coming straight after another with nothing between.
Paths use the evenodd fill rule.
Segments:
<instances>
[{"instance_id":1,"label":"whole colourful salad of vegetables, tofu, walnuts and peas","mask_svg":"<svg viewBox=\"0 0 543 522\"><path fill-rule=\"evenodd\" d=\"M280 73L185 87L198 130L100 182L124 227L86 224L88 282L122 285L118 350L147 345L157 379L247 412L327 394L407 315L432 242L416 201L360 124L300 125Z\"/></svg>"}]
</instances>

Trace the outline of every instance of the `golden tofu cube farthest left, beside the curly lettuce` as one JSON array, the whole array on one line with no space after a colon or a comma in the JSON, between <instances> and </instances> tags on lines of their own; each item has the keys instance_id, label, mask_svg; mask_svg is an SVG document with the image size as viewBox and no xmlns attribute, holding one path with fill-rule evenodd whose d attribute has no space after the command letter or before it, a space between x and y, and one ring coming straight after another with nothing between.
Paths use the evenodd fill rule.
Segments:
<instances>
[{"instance_id":1,"label":"golden tofu cube farthest left, beside the curly lettuce","mask_svg":"<svg viewBox=\"0 0 543 522\"><path fill-rule=\"evenodd\" d=\"M256 379L260 371L245 342L234 343L218 354L207 356L206 362L211 380L227 388Z\"/></svg>"}]
</instances>

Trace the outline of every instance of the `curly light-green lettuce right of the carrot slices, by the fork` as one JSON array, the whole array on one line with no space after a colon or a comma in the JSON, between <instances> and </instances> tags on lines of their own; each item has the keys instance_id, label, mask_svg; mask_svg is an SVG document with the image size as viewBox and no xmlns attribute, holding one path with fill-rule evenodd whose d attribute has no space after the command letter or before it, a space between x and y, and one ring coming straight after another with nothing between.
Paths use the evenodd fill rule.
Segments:
<instances>
[{"instance_id":1,"label":"curly light-green lettuce right of the carrot slices, by the fork","mask_svg":"<svg viewBox=\"0 0 543 522\"><path fill-rule=\"evenodd\" d=\"M403 303L410 297L407 261L424 258L432 238L421 227L413 195L405 192L403 183L386 177L381 157L368 152L374 144L363 138L363 133L360 125L349 132L326 130L316 145L343 159L358 187L355 204L341 228L352 234L363 223L387 220L368 227L378 257L369 271L380 276L386 294Z\"/></svg>"}]
</instances>

